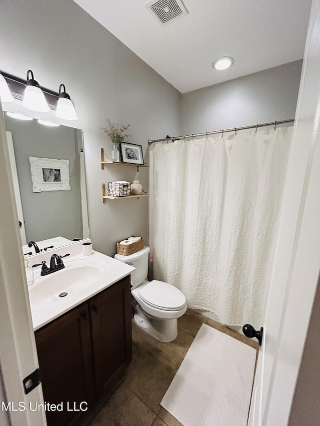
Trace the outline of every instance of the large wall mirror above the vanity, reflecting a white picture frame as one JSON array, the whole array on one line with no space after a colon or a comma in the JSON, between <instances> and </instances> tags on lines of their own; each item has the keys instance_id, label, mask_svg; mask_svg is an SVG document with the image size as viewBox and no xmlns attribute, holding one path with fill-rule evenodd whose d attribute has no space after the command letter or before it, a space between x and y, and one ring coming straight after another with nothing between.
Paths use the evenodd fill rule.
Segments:
<instances>
[{"instance_id":1,"label":"large wall mirror above the vanity, reflecting a white picture frame","mask_svg":"<svg viewBox=\"0 0 320 426\"><path fill-rule=\"evenodd\" d=\"M58 236L62 237L61 241L65 239L66 244L68 240L71 241L74 238L87 238L89 235L82 131L63 125L49 127L40 124L35 118L29 120L12 118L6 112L4 112L4 119L8 145L11 144L13 148L17 186L22 206L21 215L25 232L25 241L21 234L22 244ZM29 157L68 160L70 189L34 192ZM12 166L14 168L14 164L11 164L11 168ZM59 166L56 169L54 167L52 162L52 165L41 168L43 173L40 176L42 179L40 187L45 186L47 181L52 187L54 178L54 183L57 183L59 179L61 181L58 172L62 169ZM19 221L22 222L22 220L19 218Z\"/></svg>"}]
</instances>

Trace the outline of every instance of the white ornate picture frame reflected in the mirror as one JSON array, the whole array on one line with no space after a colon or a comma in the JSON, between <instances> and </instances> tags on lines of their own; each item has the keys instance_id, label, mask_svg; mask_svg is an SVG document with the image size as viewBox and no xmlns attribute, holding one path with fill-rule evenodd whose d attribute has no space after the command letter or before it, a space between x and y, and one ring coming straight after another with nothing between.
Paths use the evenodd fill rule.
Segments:
<instances>
[{"instance_id":1,"label":"white ornate picture frame reflected in the mirror","mask_svg":"<svg viewBox=\"0 0 320 426\"><path fill-rule=\"evenodd\" d=\"M29 157L32 191L70 191L69 160Z\"/></svg>"}]
</instances>

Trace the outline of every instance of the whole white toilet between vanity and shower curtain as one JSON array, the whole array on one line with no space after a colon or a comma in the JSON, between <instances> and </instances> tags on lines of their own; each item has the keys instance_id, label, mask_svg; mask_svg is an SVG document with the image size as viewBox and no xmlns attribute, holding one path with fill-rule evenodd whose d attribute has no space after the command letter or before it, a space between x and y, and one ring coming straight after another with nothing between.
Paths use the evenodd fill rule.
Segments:
<instances>
[{"instance_id":1,"label":"whole white toilet between vanity and shower curtain","mask_svg":"<svg viewBox=\"0 0 320 426\"><path fill-rule=\"evenodd\" d=\"M159 342L172 342L178 334L177 318L186 311L185 297L179 289L163 281L147 281L149 247L114 259L135 268L131 272L131 304L134 322Z\"/></svg>"}]
</instances>

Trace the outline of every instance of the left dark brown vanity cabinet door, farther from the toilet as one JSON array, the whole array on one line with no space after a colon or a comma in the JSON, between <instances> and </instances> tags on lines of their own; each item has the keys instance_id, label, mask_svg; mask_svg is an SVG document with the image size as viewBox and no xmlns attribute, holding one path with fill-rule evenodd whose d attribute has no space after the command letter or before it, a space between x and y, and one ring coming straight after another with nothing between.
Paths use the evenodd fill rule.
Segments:
<instances>
[{"instance_id":1,"label":"left dark brown vanity cabinet door, farther from the toilet","mask_svg":"<svg viewBox=\"0 0 320 426\"><path fill-rule=\"evenodd\" d=\"M77 424L85 412L74 410L95 401L88 304L35 332L35 341L44 401L63 408L46 411L48 426Z\"/></svg>"}]
</instances>

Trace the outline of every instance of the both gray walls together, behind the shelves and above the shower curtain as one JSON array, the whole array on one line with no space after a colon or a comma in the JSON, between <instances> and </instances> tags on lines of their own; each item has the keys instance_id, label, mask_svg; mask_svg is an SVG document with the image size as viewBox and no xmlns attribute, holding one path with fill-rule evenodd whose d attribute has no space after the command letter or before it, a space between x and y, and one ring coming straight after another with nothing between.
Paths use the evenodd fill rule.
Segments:
<instances>
[{"instance_id":1,"label":"both gray walls together, behind the shelves and above the shower curtain","mask_svg":"<svg viewBox=\"0 0 320 426\"><path fill-rule=\"evenodd\" d=\"M0 14L3 71L25 78L31 68L42 87L63 82L83 129L90 236L113 255L132 234L147 240L147 197L107 200L102 183L139 179L148 169L100 167L100 148L111 143L105 118L130 124L127 141L143 147L166 134L196 133L294 116L301 61L181 94L71 0L4 0ZM181 112L182 98L182 112ZM182 123L182 127L180 126Z\"/></svg>"}]
</instances>

